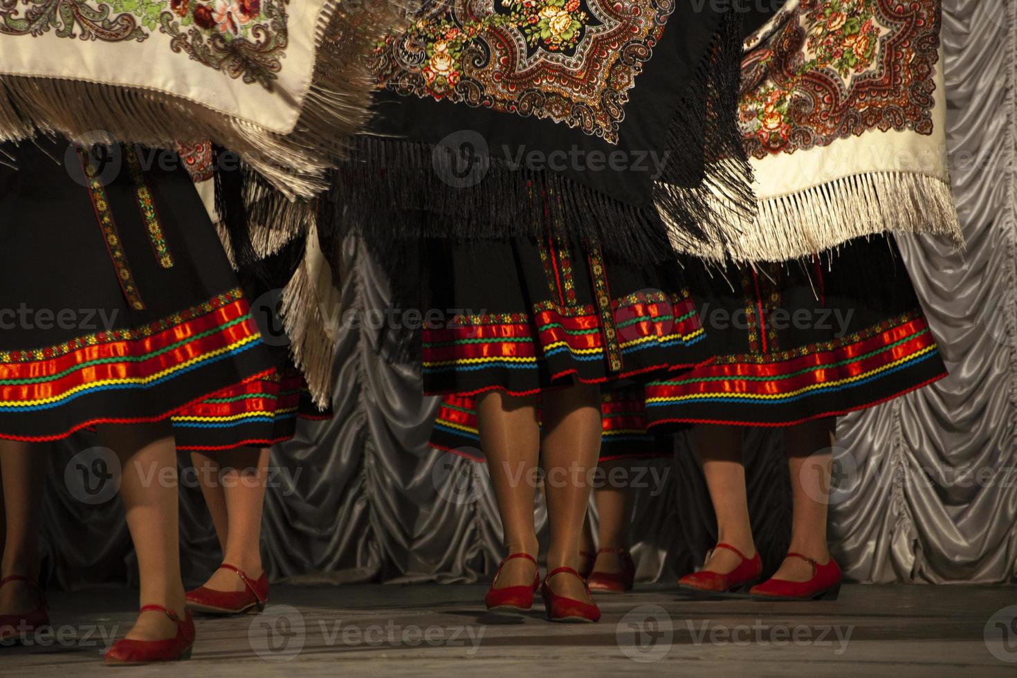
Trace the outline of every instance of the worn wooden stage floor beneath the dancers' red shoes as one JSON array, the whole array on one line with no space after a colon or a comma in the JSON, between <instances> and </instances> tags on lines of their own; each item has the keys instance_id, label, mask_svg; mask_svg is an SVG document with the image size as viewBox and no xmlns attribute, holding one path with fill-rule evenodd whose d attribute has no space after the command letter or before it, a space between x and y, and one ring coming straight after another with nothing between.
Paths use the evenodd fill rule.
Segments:
<instances>
[{"instance_id":1,"label":"worn wooden stage floor beneath the dancers' red shoes","mask_svg":"<svg viewBox=\"0 0 1017 678\"><path fill-rule=\"evenodd\" d=\"M76 592L54 596L53 635L0 648L0 676L1017 676L1015 587L845 585L783 604L640 587L599 596L597 624L548 623L539 599L490 614L485 591L278 585L261 615L199 617L190 662L115 670L100 655L136 593Z\"/></svg>"}]
</instances>

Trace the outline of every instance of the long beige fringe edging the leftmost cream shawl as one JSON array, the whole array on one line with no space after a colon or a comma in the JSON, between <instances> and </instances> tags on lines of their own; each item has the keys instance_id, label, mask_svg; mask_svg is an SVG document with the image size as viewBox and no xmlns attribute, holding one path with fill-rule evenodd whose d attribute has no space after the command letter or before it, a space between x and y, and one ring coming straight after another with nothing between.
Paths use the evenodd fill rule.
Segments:
<instances>
[{"instance_id":1,"label":"long beige fringe edging the leftmost cream shawl","mask_svg":"<svg viewBox=\"0 0 1017 678\"><path fill-rule=\"evenodd\" d=\"M364 55L393 26L405 23L395 4L370 3L370 9L351 13L342 5L330 0L318 17L310 88L288 134L151 89L0 75L0 140L60 133L83 144L130 141L173 148L186 131L187 137L212 139L237 152L285 197L314 196L327 188L327 169L369 119L373 79Z\"/></svg>"}]
</instances>

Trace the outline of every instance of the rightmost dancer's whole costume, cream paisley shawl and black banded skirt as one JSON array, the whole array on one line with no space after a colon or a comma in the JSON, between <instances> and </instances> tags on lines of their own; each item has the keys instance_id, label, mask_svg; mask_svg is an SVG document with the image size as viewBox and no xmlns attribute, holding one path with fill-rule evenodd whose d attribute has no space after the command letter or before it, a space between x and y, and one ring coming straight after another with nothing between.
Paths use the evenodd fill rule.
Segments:
<instances>
[{"instance_id":1,"label":"rightmost dancer's whole costume, cream paisley shawl and black banded skirt","mask_svg":"<svg viewBox=\"0 0 1017 678\"><path fill-rule=\"evenodd\" d=\"M717 358L647 385L651 430L789 426L946 376L892 235L960 239L940 22L938 0L789 0L749 38L739 111L760 210L714 243L719 262L690 266Z\"/></svg>"}]
</instances>

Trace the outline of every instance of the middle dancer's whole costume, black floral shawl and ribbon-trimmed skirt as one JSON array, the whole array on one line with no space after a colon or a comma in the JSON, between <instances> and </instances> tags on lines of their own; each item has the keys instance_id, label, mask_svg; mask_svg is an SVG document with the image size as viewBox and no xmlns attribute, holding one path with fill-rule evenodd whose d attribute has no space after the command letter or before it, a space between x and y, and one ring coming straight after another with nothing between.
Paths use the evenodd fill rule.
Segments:
<instances>
[{"instance_id":1,"label":"middle dancer's whole costume, black floral shawl and ribbon-trimmed skirt","mask_svg":"<svg viewBox=\"0 0 1017 678\"><path fill-rule=\"evenodd\" d=\"M374 133L322 224L412 288L404 308L429 309L425 392L532 394L709 359L670 241L751 222L737 17L462 0L415 18L376 50ZM541 161L562 153L578 160Z\"/></svg>"}]
</instances>

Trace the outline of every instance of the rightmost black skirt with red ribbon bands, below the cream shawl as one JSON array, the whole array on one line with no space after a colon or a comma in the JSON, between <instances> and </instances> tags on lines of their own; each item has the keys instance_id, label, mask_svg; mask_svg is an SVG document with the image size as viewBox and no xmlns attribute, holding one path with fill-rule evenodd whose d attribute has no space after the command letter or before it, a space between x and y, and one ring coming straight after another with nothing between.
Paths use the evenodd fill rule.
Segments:
<instances>
[{"instance_id":1,"label":"rightmost black skirt with red ribbon bands, below the cream shawl","mask_svg":"<svg viewBox=\"0 0 1017 678\"><path fill-rule=\"evenodd\" d=\"M811 261L699 268L691 287L717 358L646 386L671 424L790 426L868 408L946 376L890 237Z\"/></svg>"}]
</instances>

